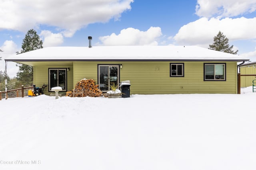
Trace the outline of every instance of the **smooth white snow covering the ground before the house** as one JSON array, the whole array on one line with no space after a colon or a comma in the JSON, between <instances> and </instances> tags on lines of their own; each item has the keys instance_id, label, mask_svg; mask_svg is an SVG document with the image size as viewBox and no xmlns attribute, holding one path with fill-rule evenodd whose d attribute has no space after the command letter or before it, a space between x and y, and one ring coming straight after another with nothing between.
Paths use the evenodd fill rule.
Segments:
<instances>
[{"instance_id":1,"label":"smooth white snow covering the ground before the house","mask_svg":"<svg viewBox=\"0 0 256 170\"><path fill-rule=\"evenodd\" d=\"M1 100L0 169L255 170L255 99L242 89Z\"/></svg>"}]
</instances>

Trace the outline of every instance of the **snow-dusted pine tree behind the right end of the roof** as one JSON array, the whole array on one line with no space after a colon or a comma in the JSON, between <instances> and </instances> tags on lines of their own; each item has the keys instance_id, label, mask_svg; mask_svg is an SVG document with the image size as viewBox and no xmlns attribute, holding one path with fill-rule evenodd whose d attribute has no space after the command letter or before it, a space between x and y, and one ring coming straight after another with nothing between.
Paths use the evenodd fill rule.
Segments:
<instances>
[{"instance_id":1,"label":"snow-dusted pine tree behind the right end of the roof","mask_svg":"<svg viewBox=\"0 0 256 170\"><path fill-rule=\"evenodd\" d=\"M222 33L218 32L218 34L213 38L214 43L209 45L211 50L221 51L224 53L237 54L238 50L233 51L233 45L229 46L228 38Z\"/></svg>"}]
</instances>

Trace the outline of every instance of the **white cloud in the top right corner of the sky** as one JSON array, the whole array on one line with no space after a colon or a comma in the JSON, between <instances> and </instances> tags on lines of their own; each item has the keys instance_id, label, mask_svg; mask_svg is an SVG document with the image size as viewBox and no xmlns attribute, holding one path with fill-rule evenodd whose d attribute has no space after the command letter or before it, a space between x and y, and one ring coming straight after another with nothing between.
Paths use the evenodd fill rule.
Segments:
<instances>
[{"instance_id":1,"label":"white cloud in the top right corner of the sky","mask_svg":"<svg viewBox=\"0 0 256 170\"><path fill-rule=\"evenodd\" d=\"M256 11L256 0L197 0L200 17L232 17Z\"/></svg>"}]
</instances>

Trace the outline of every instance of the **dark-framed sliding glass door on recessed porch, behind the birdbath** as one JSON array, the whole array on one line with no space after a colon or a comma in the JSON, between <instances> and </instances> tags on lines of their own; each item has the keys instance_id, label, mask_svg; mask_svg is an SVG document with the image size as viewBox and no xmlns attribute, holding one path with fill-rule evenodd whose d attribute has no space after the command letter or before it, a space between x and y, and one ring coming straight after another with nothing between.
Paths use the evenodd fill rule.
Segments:
<instances>
[{"instance_id":1,"label":"dark-framed sliding glass door on recessed porch, behind the birdbath","mask_svg":"<svg viewBox=\"0 0 256 170\"><path fill-rule=\"evenodd\" d=\"M62 87L62 91L67 91L66 72L66 68L49 68L49 91L56 86Z\"/></svg>"}]
</instances>

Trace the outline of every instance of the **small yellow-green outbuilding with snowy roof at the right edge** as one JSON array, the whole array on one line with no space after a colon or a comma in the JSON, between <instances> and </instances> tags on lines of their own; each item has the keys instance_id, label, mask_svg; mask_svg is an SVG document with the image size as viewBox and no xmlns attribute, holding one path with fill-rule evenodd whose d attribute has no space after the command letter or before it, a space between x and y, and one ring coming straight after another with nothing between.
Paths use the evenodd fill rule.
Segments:
<instances>
[{"instance_id":1,"label":"small yellow-green outbuilding with snowy roof at the right edge","mask_svg":"<svg viewBox=\"0 0 256 170\"><path fill-rule=\"evenodd\" d=\"M256 62L248 61L244 64L241 64L240 74L241 74L241 87L252 86L252 81L256 79Z\"/></svg>"}]
</instances>

